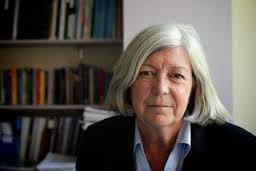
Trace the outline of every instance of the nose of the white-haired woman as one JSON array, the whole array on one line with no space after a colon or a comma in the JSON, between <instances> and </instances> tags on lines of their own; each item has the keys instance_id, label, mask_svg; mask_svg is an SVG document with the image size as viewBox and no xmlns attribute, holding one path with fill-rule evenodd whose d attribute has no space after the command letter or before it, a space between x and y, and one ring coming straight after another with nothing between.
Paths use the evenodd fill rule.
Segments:
<instances>
[{"instance_id":1,"label":"nose of the white-haired woman","mask_svg":"<svg viewBox=\"0 0 256 171\"><path fill-rule=\"evenodd\" d=\"M164 96L169 94L170 92L170 82L167 76L165 75L159 75L157 76L157 79L154 82L154 85L152 87L152 94L155 96Z\"/></svg>"}]
</instances>

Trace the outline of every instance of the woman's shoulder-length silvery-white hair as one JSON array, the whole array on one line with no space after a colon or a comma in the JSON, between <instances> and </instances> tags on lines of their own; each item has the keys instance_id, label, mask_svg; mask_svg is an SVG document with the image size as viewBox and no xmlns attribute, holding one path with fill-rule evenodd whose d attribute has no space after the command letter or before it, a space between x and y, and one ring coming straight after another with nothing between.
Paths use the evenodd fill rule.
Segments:
<instances>
[{"instance_id":1,"label":"woman's shoulder-length silvery-white hair","mask_svg":"<svg viewBox=\"0 0 256 171\"><path fill-rule=\"evenodd\" d=\"M114 66L106 105L122 114L132 109L130 87L136 80L141 65L150 54L178 46L187 51L193 75L193 87L185 119L200 125L228 119L228 112L220 102L210 78L199 36L190 25L150 26L135 36Z\"/></svg>"}]
</instances>

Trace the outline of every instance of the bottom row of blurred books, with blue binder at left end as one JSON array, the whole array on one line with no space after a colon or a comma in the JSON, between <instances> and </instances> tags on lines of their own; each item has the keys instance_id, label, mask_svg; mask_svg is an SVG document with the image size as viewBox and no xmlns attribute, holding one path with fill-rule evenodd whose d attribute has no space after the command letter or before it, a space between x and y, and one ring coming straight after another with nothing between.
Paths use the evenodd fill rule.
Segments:
<instances>
[{"instance_id":1,"label":"bottom row of blurred books, with blue binder at left end","mask_svg":"<svg viewBox=\"0 0 256 171\"><path fill-rule=\"evenodd\" d=\"M48 152L76 155L79 116L1 118L0 164L38 163Z\"/></svg>"}]
</instances>

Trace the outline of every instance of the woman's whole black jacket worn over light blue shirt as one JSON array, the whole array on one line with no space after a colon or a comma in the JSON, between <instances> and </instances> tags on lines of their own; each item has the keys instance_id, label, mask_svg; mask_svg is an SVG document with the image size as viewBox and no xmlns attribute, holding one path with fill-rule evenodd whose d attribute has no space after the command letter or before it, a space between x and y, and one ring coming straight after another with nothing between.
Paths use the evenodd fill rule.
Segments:
<instances>
[{"instance_id":1,"label":"woman's whole black jacket worn over light blue shirt","mask_svg":"<svg viewBox=\"0 0 256 171\"><path fill-rule=\"evenodd\" d=\"M115 116L83 132L77 171L132 171L134 117ZM230 123L191 124L183 171L256 170L256 137Z\"/></svg>"}]
</instances>

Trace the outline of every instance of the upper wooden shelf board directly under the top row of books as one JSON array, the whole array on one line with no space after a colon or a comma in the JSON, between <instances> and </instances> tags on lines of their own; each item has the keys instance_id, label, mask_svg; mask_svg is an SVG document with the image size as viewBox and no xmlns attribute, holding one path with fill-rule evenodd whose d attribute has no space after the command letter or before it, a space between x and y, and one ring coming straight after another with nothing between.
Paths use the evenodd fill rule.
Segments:
<instances>
[{"instance_id":1,"label":"upper wooden shelf board directly under the top row of books","mask_svg":"<svg viewBox=\"0 0 256 171\"><path fill-rule=\"evenodd\" d=\"M122 45L122 40L90 39L90 40L0 40L0 46L95 46L95 45Z\"/></svg>"}]
</instances>

